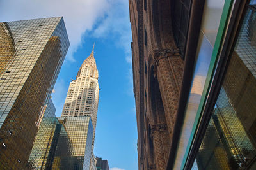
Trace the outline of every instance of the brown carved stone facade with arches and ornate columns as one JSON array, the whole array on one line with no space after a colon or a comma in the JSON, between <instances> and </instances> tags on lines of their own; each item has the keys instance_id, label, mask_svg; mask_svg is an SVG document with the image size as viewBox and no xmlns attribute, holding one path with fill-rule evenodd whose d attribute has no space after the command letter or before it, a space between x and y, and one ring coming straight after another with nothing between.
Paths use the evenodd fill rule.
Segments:
<instances>
[{"instance_id":1,"label":"brown carved stone facade with arches and ornate columns","mask_svg":"<svg viewBox=\"0 0 256 170\"><path fill-rule=\"evenodd\" d=\"M173 138L184 61L170 3L129 0L139 169L166 169Z\"/></svg>"}]
</instances>

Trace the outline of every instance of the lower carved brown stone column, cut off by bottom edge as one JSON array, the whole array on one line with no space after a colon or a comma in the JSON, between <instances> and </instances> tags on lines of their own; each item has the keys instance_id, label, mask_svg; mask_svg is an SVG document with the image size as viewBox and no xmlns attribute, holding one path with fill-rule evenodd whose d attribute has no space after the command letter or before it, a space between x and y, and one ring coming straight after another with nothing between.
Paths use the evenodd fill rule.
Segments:
<instances>
[{"instance_id":1,"label":"lower carved brown stone column, cut off by bottom edge","mask_svg":"<svg viewBox=\"0 0 256 170\"><path fill-rule=\"evenodd\" d=\"M166 124L152 125L151 134L154 143L154 158L157 170L165 169L170 146L170 137Z\"/></svg>"}]
</instances>

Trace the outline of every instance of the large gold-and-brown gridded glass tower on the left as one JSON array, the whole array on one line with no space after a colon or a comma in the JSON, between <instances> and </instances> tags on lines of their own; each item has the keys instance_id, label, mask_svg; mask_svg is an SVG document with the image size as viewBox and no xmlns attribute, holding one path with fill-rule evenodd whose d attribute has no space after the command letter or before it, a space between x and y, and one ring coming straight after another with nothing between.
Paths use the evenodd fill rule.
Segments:
<instances>
[{"instance_id":1,"label":"large gold-and-brown gridded glass tower on the left","mask_svg":"<svg viewBox=\"0 0 256 170\"><path fill-rule=\"evenodd\" d=\"M69 41L62 17L0 23L0 169L27 162Z\"/></svg>"}]
</instances>

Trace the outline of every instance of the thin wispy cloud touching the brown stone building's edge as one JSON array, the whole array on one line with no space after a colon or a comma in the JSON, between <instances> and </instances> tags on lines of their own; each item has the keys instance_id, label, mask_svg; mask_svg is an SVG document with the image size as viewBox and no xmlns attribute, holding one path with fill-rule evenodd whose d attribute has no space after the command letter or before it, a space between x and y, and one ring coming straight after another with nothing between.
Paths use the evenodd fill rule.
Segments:
<instances>
[{"instance_id":1,"label":"thin wispy cloud touching the brown stone building's edge","mask_svg":"<svg viewBox=\"0 0 256 170\"><path fill-rule=\"evenodd\" d=\"M132 77L132 56L131 56L131 24L129 20L129 4L126 0L109 0L109 6L115 7L106 11L106 15L100 24L93 31L92 36L96 38L106 38L113 35L116 38L115 45L122 48L125 52L125 60L129 64L127 80L129 82L128 94L133 94Z\"/></svg>"}]
</instances>

